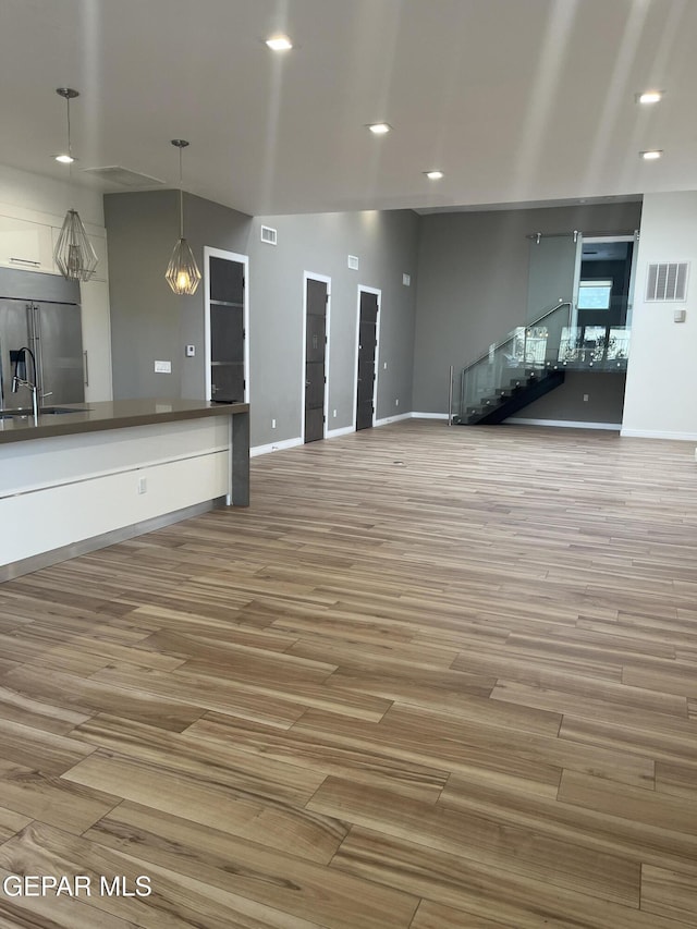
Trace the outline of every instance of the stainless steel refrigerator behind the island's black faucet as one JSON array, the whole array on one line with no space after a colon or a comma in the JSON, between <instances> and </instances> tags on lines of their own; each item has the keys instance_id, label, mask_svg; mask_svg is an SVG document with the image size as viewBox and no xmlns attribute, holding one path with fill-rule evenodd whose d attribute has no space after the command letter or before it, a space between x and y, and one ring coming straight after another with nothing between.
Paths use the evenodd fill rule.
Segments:
<instances>
[{"instance_id":1,"label":"stainless steel refrigerator behind the island's black faucet","mask_svg":"<svg viewBox=\"0 0 697 929\"><path fill-rule=\"evenodd\" d=\"M12 393L17 372L36 383L39 405L84 402L78 301L76 282L0 269L0 408L32 408L29 388ZM32 356L22 349L30 350L36 371Z\"/></svg>"}]
</instances>

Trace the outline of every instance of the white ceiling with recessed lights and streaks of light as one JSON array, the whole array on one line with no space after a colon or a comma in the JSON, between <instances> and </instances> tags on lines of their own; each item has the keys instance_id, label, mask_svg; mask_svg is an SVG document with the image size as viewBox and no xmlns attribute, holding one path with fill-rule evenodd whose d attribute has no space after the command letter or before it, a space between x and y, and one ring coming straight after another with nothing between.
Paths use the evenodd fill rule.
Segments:
<instances>
[{"instance_id":1,"label":"white ceiling with recessed lights and streaks of light","mask_svg":"<svg viewBox=\"0 0 697 929\"><path fill-rule=\"evenodd\" d=\"M70 86L76 178L175 186L184 137L184 187L253 215L697 188L696 47L697 0L0 0L0 163L65 176Z\"/></svg>"}]
</instances>

